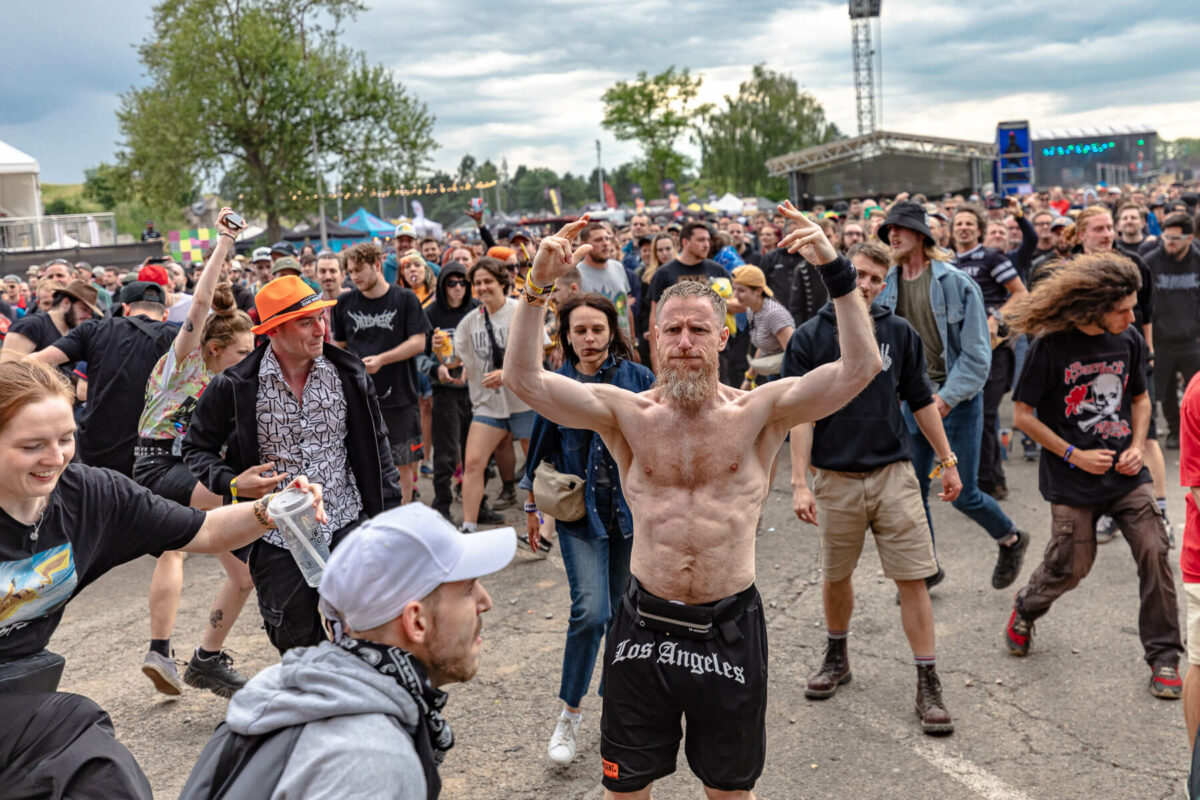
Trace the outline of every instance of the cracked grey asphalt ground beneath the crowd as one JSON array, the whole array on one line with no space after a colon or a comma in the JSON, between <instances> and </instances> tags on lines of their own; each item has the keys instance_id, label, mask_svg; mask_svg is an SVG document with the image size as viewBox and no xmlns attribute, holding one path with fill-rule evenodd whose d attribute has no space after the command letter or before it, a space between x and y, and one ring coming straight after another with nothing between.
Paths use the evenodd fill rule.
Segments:
<instances>
[{"instance_id":1,"label":"cracked grey asphalt ground beneath the crowd","mask_svg":"<svg viewBox=\"0 0 1200 800\"><path fill-rule=\"evenodd\" d=\"M1166 455L1170 515L1182 533L1177 452ZM1002 631L1013 594L1037 565L1049 529L1037 465L1021 461L1019 452L1014 457L1007 463L1012 495L1002 505L1033 536L1016 585L992 590L991 540L949 506L938 504L934 511L947 570L946 582L932 593L938 672L956 732L931 739L922 735L913 711L916 673L895 589L883 579L871 545L856 573L850 639L854 680L832 699L804 698L804 681L823 654L824 630L816 531L792 515L785 452L757 551L770 636L768 754L756 788L760 798L1183 796L1189 759L1183 715L1178 702L1146 691L1150 669L1136 636L1138 582L1123 539L1100 547L1091 576L1038 622L1028 658L1004 650ZM430 497L427 482L421 486ZM1177 549L1171 561L1177 578ZM68 660L62 688L108 709L118 736L138 757L156 795L174 798L226 702L191 688L168 699L139 673L149 637L145 593L151 570L152 560L142 559L89 588L67 609L52 648ZM222 576L216 560L206 557L190 558L185 573L175 634L180 658L198 643ZM473 682L450 687L448 716L457 744L442 768L442 796L600 798L600 702L594 693L583 704L575 763L558 768L545 754L559 708L570 606L560 558L557 552L536 559L518 551L514 564L485 585L494 608L484 618L482 667ZM228 645L251 674L276 660L259 630L253 599ZM598 681L599 668L593 692ZM702 796L682 754L679 770L658 784L655 796Z\"/></svg>"}]
</instances>

